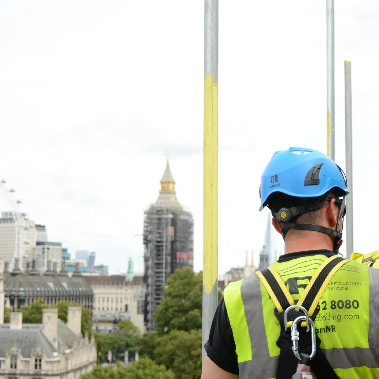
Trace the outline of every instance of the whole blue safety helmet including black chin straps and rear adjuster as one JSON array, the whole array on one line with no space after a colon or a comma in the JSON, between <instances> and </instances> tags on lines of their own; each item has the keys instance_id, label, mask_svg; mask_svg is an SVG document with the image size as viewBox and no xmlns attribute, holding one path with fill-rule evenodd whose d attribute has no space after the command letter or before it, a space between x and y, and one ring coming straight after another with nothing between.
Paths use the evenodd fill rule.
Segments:
<instances>
[{"instance_id":1,"label":"whole blue safety helmet including black chin straps and rear adjuster","mask_svg":"<svg viewBox=\"0 0 379 379\"><path fill-rule=\"evenodd\" d=\"M332 189L339 189L338 196L342 196L342 199L329 197ZM271 210L274 219L285 223L282 228L283 239L291 228L326 233L334 237L333 249L338 252L342 244L342 230L338 227L333 230L321 225L295 222L303 213L316 210L333 198L340 208L338 220L341 217L343 220L346 213L345 197L349 191L346 176L334 161L317 150L302 147L277 151L262 174L259 188L260 211L268 204L270 195L277 192L306 200L301 205L282 207L279 211ZM313 198L314 200L307 200Z\"/></svg>"}]
</instances>

